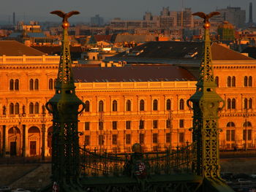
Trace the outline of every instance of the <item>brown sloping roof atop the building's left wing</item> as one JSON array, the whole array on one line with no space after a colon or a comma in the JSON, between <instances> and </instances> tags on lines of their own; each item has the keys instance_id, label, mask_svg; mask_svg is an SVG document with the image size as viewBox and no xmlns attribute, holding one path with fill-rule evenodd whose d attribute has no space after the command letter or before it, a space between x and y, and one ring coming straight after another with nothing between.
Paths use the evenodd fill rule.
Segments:
<instances>
[{"instance_id":1,"label":"brown sloping roof atop the building's left wing","mask_svg":"<svg viewBox=\"0 0 256 192\"><path fill-rule=\"evenodd\" d=\"M17 41L4 40L0 41L0 55L7 56L40 56L45 55L39 50L23 45Z\"/></svg>"}]
</instances>

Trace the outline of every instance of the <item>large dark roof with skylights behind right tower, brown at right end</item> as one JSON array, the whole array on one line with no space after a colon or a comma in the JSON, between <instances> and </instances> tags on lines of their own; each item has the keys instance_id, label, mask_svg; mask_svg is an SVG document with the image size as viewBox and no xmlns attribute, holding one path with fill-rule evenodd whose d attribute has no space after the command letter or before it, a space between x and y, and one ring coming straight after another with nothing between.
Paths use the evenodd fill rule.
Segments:
<instances>
[{"instance_id":1,"label":"large dark roof with skylights behind right tower, brown at right end","mask_svg":"<svg viewBox=\"0 0 256 192\"><path fill-rule=\"evenodd\" d=\"M119 53L113 58L154 58L154 59L182 59L201 60L203 53L203 42L146 42L134 47L129 53ZM227 47L213 43L211 45L213 60L252 60ZM109 59L108 59L109 60Z\"/></svg>"}]
</instances>

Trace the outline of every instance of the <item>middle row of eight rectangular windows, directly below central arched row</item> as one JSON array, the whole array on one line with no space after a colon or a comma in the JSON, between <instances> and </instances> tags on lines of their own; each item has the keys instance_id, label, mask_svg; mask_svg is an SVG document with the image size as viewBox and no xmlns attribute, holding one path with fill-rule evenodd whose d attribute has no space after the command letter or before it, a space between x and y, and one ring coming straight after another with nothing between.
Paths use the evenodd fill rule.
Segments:
<instances>
[{"instance_id":1,"label":"middle row of eight rectangular windows, directly below central arched row","mask_svg":"<svg viewBox=\"0 0 256 192\"><path fill-rule=\"evenodd\" d=\"M185 122L184 119L180 119L179 120L179 128L184 128L184 122ZM131 129L131 124L132 124L132 121L131 120L127 120L126 123L125 123L125 125L126 125L125 128L126 129ZM170 119L166 120L166 128L171 128L170 124L171 124ZM85 127L84 127L85 130L89 131L90 130L90 122L85 122L84 125L85 125ZM98 126L99 126L99 130L103 130L104 124L103 124L102 121L99 121L99 125ZM140 120L138 128L139 129L145 128L145 120ZM158 120L153 120L152 121L152 128L159 128ZM118 129L118 121L112 121L112 129L113 130L117 130Z\"/></svg>"}]
</instances>

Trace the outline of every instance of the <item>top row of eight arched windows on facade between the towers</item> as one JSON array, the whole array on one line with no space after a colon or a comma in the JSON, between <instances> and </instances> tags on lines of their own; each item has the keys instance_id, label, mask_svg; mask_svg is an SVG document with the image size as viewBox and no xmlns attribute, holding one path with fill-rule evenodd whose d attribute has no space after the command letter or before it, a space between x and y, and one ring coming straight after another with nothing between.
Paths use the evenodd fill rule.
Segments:
<instances>
[{"instance_id":1,"label":"top row of eight arched windows on facade between the towers","mask_svg":"<svg viewBox=\"0 0 256 192\"><path fill-rule=\"evenodd\" d=\"M90 101L86 101L85 102L86 107L85 107L85 111L86 112L90 112ZM158 107L158 101L157 99L154 99L153 101L153 110L157 111L159 109ZM99 101L99 112L103 112L104 111L104 102L101 100ZM118 102L116 100L112 101L112 111L116 112L118 110ZM125 104L125 110L126 111L131 111L132 110L132 101L131 100L127 100L126 104ZM145 101L143 99L140 100L140 111L144 111L145 110ZM171 110L171 101L170 99L166 100L166 110ZM184 99L180 99L179 100L179 110L184 110Z\"/></svg>"}]
</instances>

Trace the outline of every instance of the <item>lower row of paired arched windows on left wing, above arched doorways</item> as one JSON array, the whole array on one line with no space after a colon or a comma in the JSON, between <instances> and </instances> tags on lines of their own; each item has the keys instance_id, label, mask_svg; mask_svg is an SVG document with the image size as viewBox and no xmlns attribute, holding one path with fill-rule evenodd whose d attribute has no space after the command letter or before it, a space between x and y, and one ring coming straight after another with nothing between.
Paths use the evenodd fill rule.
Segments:
<instances>
[{"instance_id":1,"label":"lower row of paired arched windows on left wing, above arched doorways","mask_svg":"<svg viewBox=\"0 0 256 192\"><path fill-rule=\"evenodd\" d=\"M9 114L10 115L18 115L18 114L25 114L26 113L26 109L25 109L25 105L23 105L22 107L22 112L20 112L20 104L18 103L10 103L9 105ZM29 103L29 114L39 114L39 103L35 102ZM3 107L3 115L6 115L6 107Z\"/></svg>"}]
</instances>

